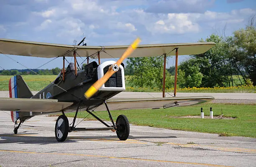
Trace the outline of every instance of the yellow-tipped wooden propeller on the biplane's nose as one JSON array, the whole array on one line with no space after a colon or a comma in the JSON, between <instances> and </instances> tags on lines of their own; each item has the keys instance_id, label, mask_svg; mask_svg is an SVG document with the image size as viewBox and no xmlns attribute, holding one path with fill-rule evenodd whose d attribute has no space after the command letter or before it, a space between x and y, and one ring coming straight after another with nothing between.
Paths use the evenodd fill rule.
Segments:
<instances>
[{"instance_id":1,"label":"yellow-tipped wooden propeller on the biplane's nose","mask_svg":"<svg viewBox=\"0 0 256 167\"><path fill-rule=\"evenodd\" d=\"M131 55L131 53L133 53L133 51L137 48L138 43L140 43L141 40L140 38L137 38L136 40L133 41L133 43L131 44L131 46L129 46L127 48L127 50L125 51L125 53L123 53L123 55L120 57L120 59L113 64L112 66L110 66L110 68L108 69L108 71L105 73L105 75L100 78L99 80L97 80L95 83L92 84L92 86L84 93L84 97L86 99L90 99L90 97L92 97L99 89L100 87L106 82L108 81L108 79L115 73L118 71L120 64L123 62L123 60L125 58L127 58L128 56Z\"/></svg>"}]
</instances>

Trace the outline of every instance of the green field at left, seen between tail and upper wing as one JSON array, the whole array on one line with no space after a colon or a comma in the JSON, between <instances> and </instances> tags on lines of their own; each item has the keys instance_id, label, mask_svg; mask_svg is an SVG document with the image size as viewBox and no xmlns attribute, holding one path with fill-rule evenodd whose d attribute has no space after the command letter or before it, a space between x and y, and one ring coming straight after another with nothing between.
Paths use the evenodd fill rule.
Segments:
<instances>
[{"instance_id":1,"label":"green field at left, seen between tail and upper wing","mask_svg":"<svg viewBox=\"0 0 256 167\"><path fill-rule=\"evenodd\" d=\"M9 80L12 76L0 76L0 91L8 91ZM31 91L40 91L57 77L55 75L25 75L22 76Z\"/></svg>"}]
</instances>

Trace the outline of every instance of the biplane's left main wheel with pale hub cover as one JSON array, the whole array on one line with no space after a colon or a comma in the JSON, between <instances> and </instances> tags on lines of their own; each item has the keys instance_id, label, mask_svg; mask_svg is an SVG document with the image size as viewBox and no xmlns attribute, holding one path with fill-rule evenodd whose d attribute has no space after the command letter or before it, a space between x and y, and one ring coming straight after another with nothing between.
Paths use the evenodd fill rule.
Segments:
<instances>
[{"instance_id":1,"label":"biplane's left main wheel with pale hub cover","mask_svg":"<svg viewBox=\"0 0 256 167\"><path fill-rule=\"evenodd\" d=\"M64 142L69 133L69 120L67 116L61 115L58 117L55 124L55 137L59 142Z\"/></svg>"}]
</instances>

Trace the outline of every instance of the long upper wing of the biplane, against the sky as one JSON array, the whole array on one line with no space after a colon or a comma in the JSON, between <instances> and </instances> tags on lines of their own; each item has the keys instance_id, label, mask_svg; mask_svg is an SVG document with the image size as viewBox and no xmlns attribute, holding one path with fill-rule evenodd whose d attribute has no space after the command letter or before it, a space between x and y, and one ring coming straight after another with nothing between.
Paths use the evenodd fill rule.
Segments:
<instances>
[{"instance_id":1,"label":"long upper wing of the biplane, against the sky","mask_svg":"<svg viewBox=\"0 0 256 167\"><path fill-rule=\"evenodd\" d=\"M155 57L167 54L175 55L174 48L179 48L179 55L201 54L215 46L214 42L169 43L139 45L130 57ZM73 51L82 57L92 57L100 52L100 58L120 58L128 46L73 46L53 43L30 42L24 40L0 39L0 54L52 58L73 56Z\"/></svg>"}]
</instances>

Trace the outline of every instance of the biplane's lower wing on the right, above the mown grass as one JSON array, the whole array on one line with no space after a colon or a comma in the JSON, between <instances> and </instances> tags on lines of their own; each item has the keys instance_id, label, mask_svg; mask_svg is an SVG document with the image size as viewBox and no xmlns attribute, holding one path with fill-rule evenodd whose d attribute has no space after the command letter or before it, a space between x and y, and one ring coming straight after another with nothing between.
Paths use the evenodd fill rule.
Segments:
<instances>
[{"instance_id":1,"label":"biplane's lower wing on the right, above the mown grass","mask_svg":"<svg viewBox=\"0 0 256 167\"><path fill-rule=\"evenodd\" d=\"M109 99L107 101L110 110L127 109L159 109L172 106L191 106L202 104L213 100L212 96L189 96L189 97L165 97L165 98L136 98L136 99ZM105 106L101 105L94 111L105 111Z\"/></svg>"}]
</instances>

